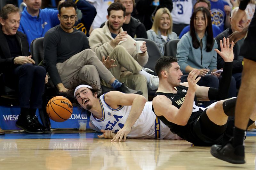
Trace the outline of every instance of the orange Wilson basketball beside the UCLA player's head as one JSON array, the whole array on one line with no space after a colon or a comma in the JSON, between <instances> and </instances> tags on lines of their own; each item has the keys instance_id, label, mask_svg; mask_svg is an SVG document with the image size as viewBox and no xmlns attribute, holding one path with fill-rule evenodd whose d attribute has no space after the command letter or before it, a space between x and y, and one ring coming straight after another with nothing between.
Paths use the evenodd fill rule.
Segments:
<instances>
[{"instance_id":1,"label":"orange Wilson basketball beside the UCLA player's head","mask_svg":"<svg viewBox=\"0 0 256 170\"><path fill-rule=\"evenodd\" d=\"M55 122L64 122L73 112L72 103L63 96L53 97L46 106L47 115Z\"/></svg>"}]
</instances>

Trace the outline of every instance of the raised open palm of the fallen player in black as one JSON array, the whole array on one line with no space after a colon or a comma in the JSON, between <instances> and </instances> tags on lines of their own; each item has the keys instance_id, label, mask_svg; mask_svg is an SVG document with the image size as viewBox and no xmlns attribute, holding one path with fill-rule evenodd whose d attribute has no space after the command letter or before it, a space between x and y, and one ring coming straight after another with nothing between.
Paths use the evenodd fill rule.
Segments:
<instances>
[{"instance_id":1,"label":"raised open palm of the fallen player in black","mask_svg":"<svg viewBox=\"0 0 256 170\"><path fill-rule=\"evenodd\" d=\"M222 40L220 40L220 50L215 49L215 51L223 58L225 62L232 62L234 60L234 53L233 53L233 47L234 47L234 42L231 42L231 46L229 48L229 39L224 37L223 38L223 43Z\"/></svg>"}]
</instances>

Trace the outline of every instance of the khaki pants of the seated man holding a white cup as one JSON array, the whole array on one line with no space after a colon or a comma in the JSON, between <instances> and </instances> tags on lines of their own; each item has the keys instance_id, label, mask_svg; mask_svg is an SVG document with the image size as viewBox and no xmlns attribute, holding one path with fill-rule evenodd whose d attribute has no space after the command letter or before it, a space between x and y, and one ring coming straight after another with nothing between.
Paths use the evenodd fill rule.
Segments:
<instances>
[{"instance_id":1,"label":"khaki pants of the seated man holding a white cup","mask_svg":"<svg viewBox=\"0 0 256 170\"><path fill-rule=\"evenodd\" d=\"M109 69L113 76L118 81L125 82L125 85L129 88L141 90L143 92L143 96L148 100L147 79L145 76L138 74L140 70L142 70L140 64L134 60L123 46L116 46L109 54L109 58L116 60L114 64L117 66ZM123 72L123 67L128 71ZM107 83L104 81L102 81L102 84L107 86Z\"/></svg>"}]
</instances>

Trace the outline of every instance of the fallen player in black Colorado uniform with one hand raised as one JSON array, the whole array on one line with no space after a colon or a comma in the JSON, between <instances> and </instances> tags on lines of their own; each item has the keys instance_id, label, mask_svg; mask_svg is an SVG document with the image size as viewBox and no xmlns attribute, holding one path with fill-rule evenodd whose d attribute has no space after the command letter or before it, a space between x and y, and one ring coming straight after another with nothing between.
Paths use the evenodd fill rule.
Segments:
<instances>
[{"instance_id":1,"label":"fallen player in black Colorado uniform with one hand raised","mask_svg":"<svg viewBox=\"0 0 256 170\"><path fill-rule=\"evenodd\" d=\"M231 81L234 43L229 48L229 40L226 42L224 38L220 46L221 52L215 50L225 61L225 67L219 89L196 85L200 81L197 69L189 73L188 82L180 83L182 72L174 57L164 56L156 62L159 87L152 101L152 109L173 133L198 146L220 144L225 131L233 129L233 126L228 126L228 116L234 116L236 98L223 99L228 95ZM197 100L221 101L202 110ZM256 113L252 114L250 124L255 120Z\"/></svg>"}]
</instances>

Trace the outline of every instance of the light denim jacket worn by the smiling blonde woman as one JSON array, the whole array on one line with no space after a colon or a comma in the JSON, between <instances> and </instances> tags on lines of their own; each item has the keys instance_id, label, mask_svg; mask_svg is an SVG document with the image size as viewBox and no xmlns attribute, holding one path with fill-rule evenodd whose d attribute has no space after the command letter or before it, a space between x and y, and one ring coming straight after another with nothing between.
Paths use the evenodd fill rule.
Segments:
<instances>
[{"instance_id":1,"label":"light denim jacket worn by the smiling blonde woman","mask_svg":"<svg viewBox=\"0 0 256 170\"><path fill-rule=\"evenodd\" d=\"M167 41L165 41L160 33L160 31L158 30L158 34L156 34L156 32L154 30L148 30L147 31L147 34L148 34L148 39L149 40L152 40L152 41L155 41L156 42L156 45L157 47L159 48L159 50L161 51L161 53L164 55L164 44L167 42L167 41L170 41L170 40L174 40L174 39L177 39L178 36L176 33L172 32L170 34L167 35Z\"/></svg>"}]
</instances>

